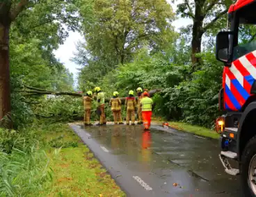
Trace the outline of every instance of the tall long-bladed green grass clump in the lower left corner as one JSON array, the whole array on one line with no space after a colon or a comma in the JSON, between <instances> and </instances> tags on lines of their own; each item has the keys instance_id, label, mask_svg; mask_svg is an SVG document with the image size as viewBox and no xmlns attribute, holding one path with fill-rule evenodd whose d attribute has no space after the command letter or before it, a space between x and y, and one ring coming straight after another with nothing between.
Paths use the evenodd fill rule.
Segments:
<instances>
[{"instance_id":1,"label":"tall long-bladed green grass clump in the lower left corner","mask_svg":"<svg viewBox=\"0 0 256 197\"><path fill-rule=\"evenodd\" d=\"M49 160L33 134L0 128L0 196L28 196L51 179Z\"/></svg>"}]
</instances>

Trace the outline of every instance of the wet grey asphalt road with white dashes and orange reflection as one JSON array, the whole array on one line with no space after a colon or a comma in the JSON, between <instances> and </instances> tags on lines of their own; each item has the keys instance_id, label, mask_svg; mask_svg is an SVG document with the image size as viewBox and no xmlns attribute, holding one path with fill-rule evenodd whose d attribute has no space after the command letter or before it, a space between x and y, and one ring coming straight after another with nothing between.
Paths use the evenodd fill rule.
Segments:
<instances>
[{"instance_id":1,"label":"wet grey asphalt road with white dashes and orange reflection","mask_svg":"<svg viewBox=\"0 0 256 197\"><path fill-rule=\"evenodd\" d=\"M241 196L218 159L218 140L160 126L70 126L127 196Z\"/></svg>"}]
</instances>

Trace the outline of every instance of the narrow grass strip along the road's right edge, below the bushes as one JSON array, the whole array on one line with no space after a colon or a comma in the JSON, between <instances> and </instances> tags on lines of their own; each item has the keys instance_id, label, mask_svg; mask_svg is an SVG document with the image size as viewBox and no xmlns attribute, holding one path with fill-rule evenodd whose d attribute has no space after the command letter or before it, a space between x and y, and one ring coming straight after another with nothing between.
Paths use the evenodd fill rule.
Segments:
<instances>
[{"instance_id":1,"label":"narrow grass strip along the road's right edge, below the bushes","mask_svg":"<svg viewBox=\"0 0 256 197\"><path fill-rule=\"evenodd\" d=\"M165 122L164 120L156 117L154 117L152 121L157 122L159 124L162 124L163 122ZM189 123L182 123L182 122L175 122L175 121L169 121L168 123L169 123L169 126L172 128L186 131L186 132L192 132L195 135L210 137L213 139L218 139L220 137L220 135L214 130L211 130L209 128L205 128L202 126L193 126L193 125L190 125Z\"/></svg>"}]
</instances>

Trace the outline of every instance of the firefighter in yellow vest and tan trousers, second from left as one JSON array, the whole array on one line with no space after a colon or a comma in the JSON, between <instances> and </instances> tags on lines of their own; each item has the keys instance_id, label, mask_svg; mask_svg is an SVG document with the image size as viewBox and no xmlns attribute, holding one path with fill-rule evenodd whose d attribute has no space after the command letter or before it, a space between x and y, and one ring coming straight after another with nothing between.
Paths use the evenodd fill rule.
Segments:
<instances>
[{"instance_id":1,"label":"firefighter in yellow vest and tan trousers, second from left","mask_svg":"<svg viewBox=\"0 0 256 197\"><path fill-rule=\"evenodd\" d=\"M102 92L100 87L95 87L94 91L97 94L97 108L100 110L99 123L97 126L102 126L106 124L106 116L105 116L105 94Z\"/></svg>"}]
</instances>

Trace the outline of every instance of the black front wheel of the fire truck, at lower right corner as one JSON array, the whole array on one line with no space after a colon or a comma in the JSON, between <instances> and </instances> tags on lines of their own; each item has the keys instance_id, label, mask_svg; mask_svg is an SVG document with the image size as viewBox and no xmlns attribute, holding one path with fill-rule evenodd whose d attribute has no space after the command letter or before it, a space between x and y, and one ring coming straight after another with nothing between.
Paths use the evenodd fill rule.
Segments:
<instances>
[{"instance_id":1,"label":"black front wheel of the fire truck, at lower right corner","mask_svg":"<svg viewBox=\"0 0 256 197\"><path fill-rule=\"evenodd\" d=\"M240 164L241 186L246 197L256 196L256 136L244 148Z\"/></svg>"}]
</instances>

